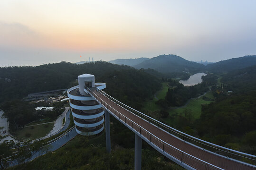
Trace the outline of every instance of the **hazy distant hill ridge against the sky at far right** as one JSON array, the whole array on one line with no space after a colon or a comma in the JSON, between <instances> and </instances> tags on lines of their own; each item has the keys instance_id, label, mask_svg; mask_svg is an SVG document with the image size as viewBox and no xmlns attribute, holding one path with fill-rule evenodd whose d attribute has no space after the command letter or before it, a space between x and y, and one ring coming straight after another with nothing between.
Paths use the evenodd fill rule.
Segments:
<instances>
[{"instance_id":1,"label":"hazy distant hill ridge against the sky at far right","mask_svg":"<svg viewBox=\"0 0 256 170\"><path fill-rule=\"evenodd\" d=\"M207 70L210 72L229 72L239 68L246 68L256 65L256 55L227 59L217 63L208 64Z\"/></svg>"}]
</instances>

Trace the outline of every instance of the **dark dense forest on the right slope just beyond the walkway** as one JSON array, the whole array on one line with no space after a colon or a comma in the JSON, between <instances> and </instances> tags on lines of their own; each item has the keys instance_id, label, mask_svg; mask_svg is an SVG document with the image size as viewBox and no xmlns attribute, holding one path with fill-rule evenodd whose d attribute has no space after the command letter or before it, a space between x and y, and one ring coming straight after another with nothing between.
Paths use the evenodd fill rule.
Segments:
<instances>
[{"instance_id":1,"label":"dark dense forest on the right slope just beyond the walkway","mask_svg":"<svg viewBox=\"0 0 256 170\"><path fill-rule=\"evenodd\" d=\"M202 107L197 130L217 144L255 154L256 66L223 75L213 86L216 101Z\"/></svg>"}]
</instances>

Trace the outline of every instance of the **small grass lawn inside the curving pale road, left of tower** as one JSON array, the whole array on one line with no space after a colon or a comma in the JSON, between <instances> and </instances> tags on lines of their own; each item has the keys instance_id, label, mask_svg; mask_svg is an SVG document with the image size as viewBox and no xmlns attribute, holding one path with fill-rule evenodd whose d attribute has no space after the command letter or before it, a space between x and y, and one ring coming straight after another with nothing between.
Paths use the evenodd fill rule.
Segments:
<instances>
[{"instance_id":1,"label":"small grass lawn inside the curving pale road, left of tower","mask_svg":"<svg viewBox=\"0 0 256 170\"><path fill-rule=\"evenodd\" d=\"M16 132L13 132L12 135L18 137L19 139L36 139L46 136L53 128L53 125L54 123L48 123L33 127L25 127Z\"/></svg>"}]
</instances>

